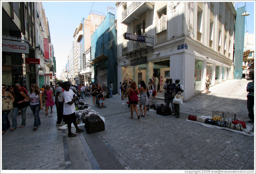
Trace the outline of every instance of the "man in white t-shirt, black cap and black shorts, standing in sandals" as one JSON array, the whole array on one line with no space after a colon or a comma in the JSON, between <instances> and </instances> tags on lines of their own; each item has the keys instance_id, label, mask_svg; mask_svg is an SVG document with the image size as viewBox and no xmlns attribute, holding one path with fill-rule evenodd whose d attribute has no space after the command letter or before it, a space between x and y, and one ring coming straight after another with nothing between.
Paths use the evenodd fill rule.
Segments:
<instances>
[{"instance_id":1,"label":"man in white t-shirt, black cap and black shorts, standing in sandals","mask_svg":"<svg viewBox=\"0 0 256 174\"><path fill-rule=\"evenodd\" d=\"M64 105L63 105L63 120L67 123L67 130L68 130L68 137L75 137L77 134L74 134L71 132L71 124L73 123L76 128L77 132L83 132L83 129L80 129L77 126L76 123L76 114L75 114L75 104L74 102L77 100L78 96L70 90L70 83L69 81L63 82L63 99L64 99Z\"/></svg>"}]
</instances>

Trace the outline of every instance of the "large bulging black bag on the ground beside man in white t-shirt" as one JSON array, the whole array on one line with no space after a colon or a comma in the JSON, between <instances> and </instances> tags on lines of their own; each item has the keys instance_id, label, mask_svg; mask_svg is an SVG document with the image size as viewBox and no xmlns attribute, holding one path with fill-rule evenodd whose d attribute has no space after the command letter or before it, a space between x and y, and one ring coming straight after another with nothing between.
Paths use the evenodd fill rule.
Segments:
<instances>
[{"instance_id":1,"label":"large bulging black bag on the ground beside man in white t-shirt","mask_svg":"<svg viewBox=\"0 0 256 174\"><path fill-rule=\"evenodd\" d=\"M84 127L87 134L105 130L105 124L103 120L96 114L90 114L90 116L85 118Z\"/></svg>"}]
</instances>

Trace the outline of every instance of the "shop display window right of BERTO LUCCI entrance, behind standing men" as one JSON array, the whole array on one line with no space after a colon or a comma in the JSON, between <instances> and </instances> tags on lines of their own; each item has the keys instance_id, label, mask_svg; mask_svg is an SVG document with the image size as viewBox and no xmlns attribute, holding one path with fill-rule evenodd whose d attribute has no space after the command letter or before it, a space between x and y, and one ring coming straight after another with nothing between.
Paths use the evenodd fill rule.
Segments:
<instances>
[{"instance_id":1,"label":"shop display window right of BERTO LUCCI entrance, behind standing men","mask_svg":"<svg viewBox=\"0 0 256 174\"><path fill-rule=\"evenodd\" d=\"M163 85L167 78L171 78L170 59L154 61L153 62L153 73L152 73L152 75L150 74L149 78L156 83L155 85L157 87L157 92L159 90L161 90L161 91L163 91L163 95L164 95Z\"/></svg>"}]
</instances>

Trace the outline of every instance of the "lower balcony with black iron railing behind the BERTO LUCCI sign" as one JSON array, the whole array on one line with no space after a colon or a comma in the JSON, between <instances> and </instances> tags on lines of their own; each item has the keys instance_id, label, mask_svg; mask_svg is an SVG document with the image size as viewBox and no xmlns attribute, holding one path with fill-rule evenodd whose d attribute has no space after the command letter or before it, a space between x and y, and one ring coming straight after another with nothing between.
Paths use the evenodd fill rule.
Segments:
<instances>
[{"instance_id":1,"label":"lower balcony with black iron railing behind the BERTO LUCCI sign","mask_svg":"<svg viewBox=\"0 0 256 174\"><path fill-rule=\"evenodd\" d=\"M124 46L122 46L122 55L131 53L131 51L141 51L141 49L147 49L147 47L154 46L154 36L144 35L145 42L131 41Z\"/></svg>"}]
</instances>

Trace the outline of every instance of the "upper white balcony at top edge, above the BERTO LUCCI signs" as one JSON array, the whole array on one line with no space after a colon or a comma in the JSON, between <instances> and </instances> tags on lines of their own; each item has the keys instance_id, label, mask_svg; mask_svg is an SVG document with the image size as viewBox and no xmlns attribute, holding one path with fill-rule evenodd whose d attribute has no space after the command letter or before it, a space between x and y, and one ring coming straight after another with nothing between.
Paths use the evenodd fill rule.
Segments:
<instances>
[{"instance_id":1,"label":"upper white balcony at top edge, above the BERTO LUCCI signs","mask_svg":"<svg viewBox=\"0 0 256 174\"><path fill-rule=\"evenodd\" d=\"M133 2L122 13L121 23L128 25L135 19L139 19L140 15L145 13L148 9L154 9L154 2Z\"/></svg>"}]
</instances>

